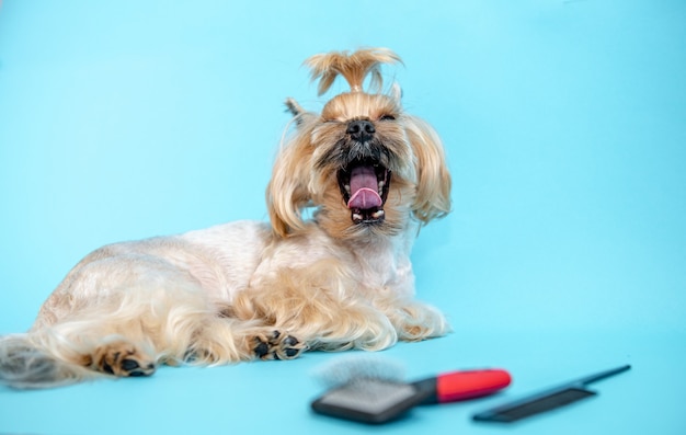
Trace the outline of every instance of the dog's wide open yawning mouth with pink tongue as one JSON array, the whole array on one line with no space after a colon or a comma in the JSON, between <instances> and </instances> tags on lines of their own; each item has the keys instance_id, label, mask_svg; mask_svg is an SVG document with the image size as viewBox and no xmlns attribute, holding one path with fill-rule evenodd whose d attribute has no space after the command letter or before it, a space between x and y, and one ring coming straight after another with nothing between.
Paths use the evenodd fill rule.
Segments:
<instances>
[{"instance_id":1,"label":"dog's wide open yawning mouth with pink tongue","mask_svg":"<svg viewBox=\"0 0 686 435\"><path fill-rule=\"evenodd\" d=\"M373 161L361 161L339 171L343 201L354 224L384 221L384 204L390 185L390 170Z\"/></svg>"}]
</instances>

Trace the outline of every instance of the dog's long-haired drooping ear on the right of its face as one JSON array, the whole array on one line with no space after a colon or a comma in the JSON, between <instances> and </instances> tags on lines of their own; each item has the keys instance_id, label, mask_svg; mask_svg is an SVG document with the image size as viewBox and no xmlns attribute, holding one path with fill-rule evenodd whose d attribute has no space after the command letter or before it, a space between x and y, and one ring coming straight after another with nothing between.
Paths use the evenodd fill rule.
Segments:
<instances>
[{"instance_id":1,"label":"dog's long-haired drooping ear on the right of its face","mask_svg":"<svg viewBox=\"0 0 686 435\"><path fill-rule=\"evenodd\" d=\"M405 117L405 133L416 156L418 190L412 210L424 224L450 211L451 180L441 138L426 122Z\"/></svg>"}]
</instances>

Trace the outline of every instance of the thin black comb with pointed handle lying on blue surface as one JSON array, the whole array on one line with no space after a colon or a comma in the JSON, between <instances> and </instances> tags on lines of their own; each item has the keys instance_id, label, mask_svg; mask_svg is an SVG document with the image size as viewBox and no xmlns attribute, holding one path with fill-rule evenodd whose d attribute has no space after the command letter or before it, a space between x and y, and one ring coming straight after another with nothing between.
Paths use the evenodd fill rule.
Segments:
<instances>
[{"instance_id":1,"label":"thin black comb with pointed handle lying on blue surface","mask_svg":"<svg viewBox=\"0 0 686 435\"><path fill-rule=\"evenodd\" d=\"M586 389L590 384L618 375L630 368L630 365L626 365L586 376L581 379L504 403L491 410L480 412L473 415L473 420L480 422L512 423L541 412L564 407L578 400L596 396L597 393L595 391Z\"/></svg>"}]
</instances>

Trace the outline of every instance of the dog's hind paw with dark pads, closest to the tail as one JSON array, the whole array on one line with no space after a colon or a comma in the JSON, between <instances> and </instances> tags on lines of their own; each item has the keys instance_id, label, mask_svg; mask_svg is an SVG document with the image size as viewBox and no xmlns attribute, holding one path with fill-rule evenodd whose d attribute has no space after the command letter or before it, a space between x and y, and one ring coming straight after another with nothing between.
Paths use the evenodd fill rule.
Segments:
<instances>
[{"instance_id":1,"label":"dog's hind paw with dark pads, closest to the tail","mask_svg":"<svg viewBox=\"0 0 686 435\"><path fill-rule=\"evenodd\" d=\"M155 362L130 343L121 341L100 346L92 355L92 368L118 377L150 376Z\"/></svg>"}]
</instances>

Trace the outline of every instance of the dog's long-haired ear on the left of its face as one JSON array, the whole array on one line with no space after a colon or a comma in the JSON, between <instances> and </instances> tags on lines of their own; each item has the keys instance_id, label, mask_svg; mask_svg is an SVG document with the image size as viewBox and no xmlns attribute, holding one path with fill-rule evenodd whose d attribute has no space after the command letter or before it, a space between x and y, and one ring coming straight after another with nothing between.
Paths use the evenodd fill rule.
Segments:
<instances>
[{"instance_id":1,"label":"dog's long-haired ear on the left of its face","mask_svg":"<svg viewBox=\"0 0 686 435\"><path fill-rule=\"evenodd\" d=\"M272 180L266 188L266 204L272 228L281 237L304 228L302 209L310 202L309 161L311 152L309 134L317 115L305 111L294 99L286 100L287 111L294 116L296 134L284 138L274 161Z\"/></svg>"}]
</instances>

